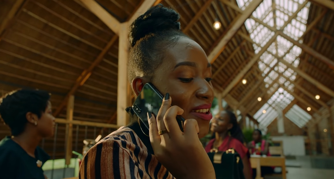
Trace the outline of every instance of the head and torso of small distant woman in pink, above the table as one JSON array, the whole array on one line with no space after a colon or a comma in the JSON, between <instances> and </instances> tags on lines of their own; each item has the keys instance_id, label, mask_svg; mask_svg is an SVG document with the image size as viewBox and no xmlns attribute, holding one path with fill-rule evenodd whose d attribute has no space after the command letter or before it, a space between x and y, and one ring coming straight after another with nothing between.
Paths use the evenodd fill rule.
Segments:
<instances>
[{"instance_id":1,"label":"head and torso of small distant woman in pink, above the table","mask_svg":"<svg viewBox=\"0 0 334 179\"><path fill-rule=\"evenodd\" d=\"M253 141L248 143L248 148L251 149L251 154L257 153L260 155L270 156L269 143L262 139L262 132L259 129L253 131Z\"/></svg>"}]
</instances>

